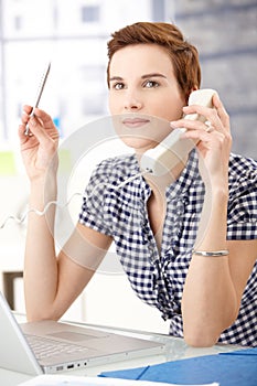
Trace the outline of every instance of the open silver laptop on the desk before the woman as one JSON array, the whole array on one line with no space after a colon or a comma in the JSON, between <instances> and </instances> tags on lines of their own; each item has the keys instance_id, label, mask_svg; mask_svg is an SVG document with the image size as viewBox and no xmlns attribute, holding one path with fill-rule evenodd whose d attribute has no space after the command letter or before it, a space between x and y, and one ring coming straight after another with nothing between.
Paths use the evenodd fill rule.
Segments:
<instances>
[{"instance_id":1,"label":"open silver laptop on the desk before the woman","mask_svg":"<svg viewBox=\"0 0 257 386\"><path fill-rule=\"evenodd\" d=\"M0 292L0 367L56 374L125 358L160 354L159 342L56 321L18 324Z\"/></svg>"}]
</instances>

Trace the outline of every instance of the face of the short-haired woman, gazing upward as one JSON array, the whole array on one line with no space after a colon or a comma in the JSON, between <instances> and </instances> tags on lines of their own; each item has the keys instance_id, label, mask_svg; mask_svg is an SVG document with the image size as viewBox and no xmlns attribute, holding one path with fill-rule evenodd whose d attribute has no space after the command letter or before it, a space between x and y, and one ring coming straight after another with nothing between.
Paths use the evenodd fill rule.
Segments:
<instances>
[{"instance_id":1,"label":"face of the short-haired woman, gazing upward","mask_svg":"<svg viewBox=\"0 0 257 386\"><path fill-rule=\"evenodd\" d=\"M109 110L117 116L117 131L128 146L144 151L162 141L171 131L169 121L182 116L184 105L164 49L137 44L114 54L109 66Z\"/></svg>"}]
</instances>

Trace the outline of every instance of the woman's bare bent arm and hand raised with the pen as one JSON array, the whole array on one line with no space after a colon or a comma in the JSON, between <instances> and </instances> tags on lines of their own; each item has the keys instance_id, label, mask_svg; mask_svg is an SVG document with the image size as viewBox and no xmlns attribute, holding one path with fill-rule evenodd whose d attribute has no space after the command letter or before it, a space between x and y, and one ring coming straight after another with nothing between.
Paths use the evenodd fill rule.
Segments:
<instances>
[{"instance_id":1,"label":"woman's bare bent arm and hand raised with the pen","mask_svg":"<svg viewBox=\"0 0 257 386\"><path fill-rule=\"evenodd\" d=\"M19 136L31 184L30 208L42 212L49 202L56 200L58 133L46 112L36 109L36 116L30 118L30 111L31 107L25 106ZM24 135L28 121L32 136ZM29 213L24 259L29 320L62 317L89 281L111 243L110 237L78 224L56 258L54 221L54 205L42 216L33 211Z\"/></svg>"}]
</instances>

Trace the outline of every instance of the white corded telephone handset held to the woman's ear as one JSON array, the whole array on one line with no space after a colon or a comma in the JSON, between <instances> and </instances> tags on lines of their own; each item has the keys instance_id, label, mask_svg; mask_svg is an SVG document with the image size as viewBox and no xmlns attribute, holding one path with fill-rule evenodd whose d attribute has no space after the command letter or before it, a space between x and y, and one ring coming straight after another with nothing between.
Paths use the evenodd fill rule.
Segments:
<instances>
[{"instance_id":1,"label":"white corded telephone handset held to the woman's ear","mask_svg":"<svg viewBox=\"0 0 257 386\"><path fill-rule=\"evenodd\" d=\"M201 105L213 107L214 89L203 88L190 94L189 105ZM186 115L184 119L205 121L206 118L197 114ZM191 139L181 139L181 135L186 131L185 128L174 129L156 148L147 150L140 160L142 171L153 175L162 175L175 167L180 161L185 160L186 156L194 148L195 142Z\"/></svg>"}]
</instances>

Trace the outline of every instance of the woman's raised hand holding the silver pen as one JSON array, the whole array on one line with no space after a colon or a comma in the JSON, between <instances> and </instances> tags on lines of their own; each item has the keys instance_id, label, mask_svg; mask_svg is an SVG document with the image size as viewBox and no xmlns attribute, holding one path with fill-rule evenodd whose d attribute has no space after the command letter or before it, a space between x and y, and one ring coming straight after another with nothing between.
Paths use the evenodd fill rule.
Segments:
<instances>
[{"instance_id":1,"label":"woman's raised hand holding the silver pen","mask_svg":"<svg viewBox=\"0 0 257 386\"><path fill-rule=\"evenodd\" d=\"M30 180L34 181L45 178L50 168L56 173L58 131L45 111L35 108L33 115L30 116L31 111L31 106L23 107L19 138L26 173ZM29 135L24 133L26 125L30 128Z\"/></svg>"}]
</instances>

